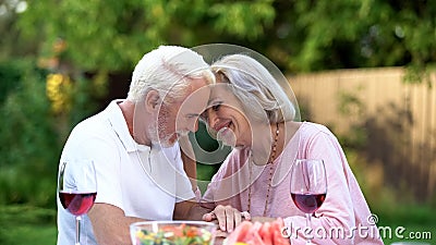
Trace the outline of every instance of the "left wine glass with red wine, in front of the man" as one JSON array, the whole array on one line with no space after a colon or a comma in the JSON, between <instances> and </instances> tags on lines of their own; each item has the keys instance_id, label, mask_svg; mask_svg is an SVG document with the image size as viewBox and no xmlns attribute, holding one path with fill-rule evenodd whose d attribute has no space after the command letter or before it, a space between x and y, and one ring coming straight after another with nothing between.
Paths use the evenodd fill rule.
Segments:
<instances>
[{"instance_id":1,"label":"left wine glass with red wine, in front of the man","mask_svg":"<svg viewBox=\"0 0 436 245\"><path fill-rule=\"evenodd\" d=\"M63 161L59 167L58 194L63 208L75 216L75 245L81 244L81 220L93 207L97 180L92 160Z\"/></svg>"}]
</instances>

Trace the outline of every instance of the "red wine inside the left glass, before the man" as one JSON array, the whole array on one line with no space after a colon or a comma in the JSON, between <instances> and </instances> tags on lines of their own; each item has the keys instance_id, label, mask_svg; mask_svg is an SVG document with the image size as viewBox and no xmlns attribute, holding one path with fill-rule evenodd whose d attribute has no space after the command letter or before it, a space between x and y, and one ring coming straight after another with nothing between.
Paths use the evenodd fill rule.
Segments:
<instances>
[{"instance_id":1,"label":"red wine inside the left glass, before the man","mask_svg":"<svg viewBox=\"0 0 436 245\"><path fill-rule=\"evenodd\" d=\"M59 199L64 209L74 216L86 213L94 205L97 193L66 193L59 192Z\"/></svg>"}]
</instances>

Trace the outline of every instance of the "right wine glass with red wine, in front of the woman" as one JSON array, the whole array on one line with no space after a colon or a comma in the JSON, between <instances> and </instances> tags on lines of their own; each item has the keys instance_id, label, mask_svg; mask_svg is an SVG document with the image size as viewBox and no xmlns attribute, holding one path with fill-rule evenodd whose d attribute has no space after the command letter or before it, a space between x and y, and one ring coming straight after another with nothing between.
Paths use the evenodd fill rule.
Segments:
<instances>
[{"instance_id":1,"label":"right wine glass with red wine, in front of the woman","mask_svg":"<svg viewBox=\"0 0 436 245\"><path fill-rule=\"evenodd\" d=\"M306 215L306 226L312 231L311 217L323 205L327 195L327 177L320 159L296 159L291 171L291 197ZM306 244L312 244L306 237Z\"/></svg>"}]
</instances>

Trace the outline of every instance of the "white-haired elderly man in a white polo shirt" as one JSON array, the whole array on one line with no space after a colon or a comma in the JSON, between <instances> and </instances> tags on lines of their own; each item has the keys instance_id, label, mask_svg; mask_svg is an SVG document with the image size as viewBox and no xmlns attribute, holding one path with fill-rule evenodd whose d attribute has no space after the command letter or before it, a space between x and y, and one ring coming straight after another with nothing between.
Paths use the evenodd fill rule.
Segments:
<instances>
[{"instance_id":1,"label":"white-haired elderly man in a white polo shirt","mask_svg":"<svg viewBox=\"0 0 436 245\"><path fill-rule=\"evenodd\" d=\"M60 162L92 159L97 177L95 204L82 220L82 241L131 244L132 222L201 220L210 211L190 201L195 196L178 139L197 130L213 83L208 64L196 52L160 46L137 63L126 99L113 100L74 127ZM228 231L241 221L231 207L217 207L214 217ZM74 244L74 225L58 198L59 245Z\"/></svg>"}]
</instances>

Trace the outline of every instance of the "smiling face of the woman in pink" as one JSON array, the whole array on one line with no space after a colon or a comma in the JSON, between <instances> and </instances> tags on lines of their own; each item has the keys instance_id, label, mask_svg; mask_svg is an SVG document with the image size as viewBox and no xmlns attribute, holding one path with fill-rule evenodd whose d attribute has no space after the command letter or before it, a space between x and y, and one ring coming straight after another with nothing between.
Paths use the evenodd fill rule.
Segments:
<instances>
[{"instance_id":1,"label":"smiling face of the woman in pink","mask_svg":"<svg viewBox=\"0 0 436 245\"><path fill-rule=\"evenodd\" d=\"M208 109L203 113L218 140L233 147L251 146L252 131L240 100L227 83L217 83L210 91Z\"/></svg>"}]
</instances>

